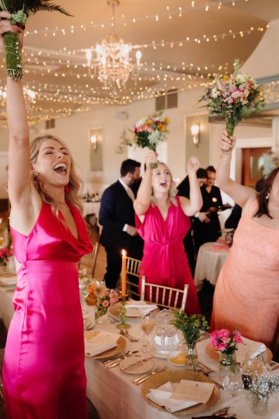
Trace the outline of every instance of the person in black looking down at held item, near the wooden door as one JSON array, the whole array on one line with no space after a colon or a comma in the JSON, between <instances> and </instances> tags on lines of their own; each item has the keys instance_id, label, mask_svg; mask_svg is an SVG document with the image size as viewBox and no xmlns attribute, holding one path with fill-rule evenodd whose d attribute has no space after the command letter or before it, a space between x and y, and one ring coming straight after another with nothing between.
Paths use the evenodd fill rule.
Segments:
<instances>
[{"instance_id":1,"label":"person in black looking down at held item, near the wooden door","mask_svg":"<svg viewBox=\"0 0 279 419\"><path fill-rule=\"evenodd\" d=\"M216 170L213 166L206 168L206 184L202 186L202 209L195 216L194 240L196 252L206 242L216 242L220 237L218 211L223 210L220 189L214 185Z\"/></svg>"}]
</instances>

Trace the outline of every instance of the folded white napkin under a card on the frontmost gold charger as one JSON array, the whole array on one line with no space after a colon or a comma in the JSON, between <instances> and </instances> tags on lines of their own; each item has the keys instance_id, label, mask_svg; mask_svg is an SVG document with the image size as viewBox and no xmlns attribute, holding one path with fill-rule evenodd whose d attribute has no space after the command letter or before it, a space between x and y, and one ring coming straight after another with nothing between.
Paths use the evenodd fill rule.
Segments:
<instances>
[{"instance_id":1,"label":"folded white napkin under a card on the frontmost gold charger","mask_svg":"<svg viewBox=\"0 0 279 419\"><path fill-rule=\"evenodd\" d=\"M176 389L177 385L179 385L179 383L170 383L170 381L168 381L159 388L151 388L149 394L146 396L159 406L165 406L167 411L170 413L174 413L182 409L188 409L188 407L198 404L197 402L191 402L189 400L171 399L170 396Z\"/></svg>"}]
</instances>

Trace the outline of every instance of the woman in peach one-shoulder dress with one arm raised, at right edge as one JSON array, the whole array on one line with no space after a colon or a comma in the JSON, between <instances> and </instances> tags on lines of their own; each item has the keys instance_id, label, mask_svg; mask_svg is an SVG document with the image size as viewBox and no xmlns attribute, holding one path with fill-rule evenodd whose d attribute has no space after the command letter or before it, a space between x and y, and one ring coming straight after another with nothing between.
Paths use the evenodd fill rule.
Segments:
<instances>
[{"instance_id":1,"label":"woman in peach one-shoulder dress with one arm raised, at right edge","mask_svg":"<svg viewBox=\"0 0 279 419\"><path fill-rule=\"evenodd\" d=\"M224 131L216 183L242 207L242 216L216 284L211 329L238 329L273 349L279 325L279 168L259 194L237 184L229 178L234 143Z\"/></svg>"}]
</instances>

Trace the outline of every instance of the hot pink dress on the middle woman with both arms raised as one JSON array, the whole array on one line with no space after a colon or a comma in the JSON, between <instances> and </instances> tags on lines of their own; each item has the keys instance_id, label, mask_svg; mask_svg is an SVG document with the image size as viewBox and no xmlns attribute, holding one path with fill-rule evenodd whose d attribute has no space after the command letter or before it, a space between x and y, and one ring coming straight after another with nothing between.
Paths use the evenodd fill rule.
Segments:
<instances>
[{"instance_id":1,"label":"hot pink dress on the middle woman with both arms raised","mask_svg":"<svg viewBox=\"0 0 279 419\"><path fill-rule=\"evenodd\" d=\"M144 239L140 273L151 284L181 290L188 284L186 313L199 314L197 291L183 245L183 238L190 228L190 219L183 213L178 196L176 201L177 207L170 204L165 221L158 207L152 205L149 205L143 223L136 216L138 233Z\"/></svg>"}]
</instances>

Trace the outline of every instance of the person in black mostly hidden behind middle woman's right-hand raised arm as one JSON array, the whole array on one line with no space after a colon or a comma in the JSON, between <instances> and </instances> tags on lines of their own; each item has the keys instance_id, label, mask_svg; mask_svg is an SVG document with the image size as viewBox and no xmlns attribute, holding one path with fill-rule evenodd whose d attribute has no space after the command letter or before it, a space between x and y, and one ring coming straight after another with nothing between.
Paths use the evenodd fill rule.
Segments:
<instances>
[{"instance_id":1,"label":"person in black mostly hidden behind middle woman's right-hand raised arm","mask_svg":"<svg viewBox=\"0 0 279 419\"><path fill-rule=\"evenodd\" d=\"M199 168L197 170L197 182L199 186L202 187L206 183L206 170ZM179 196L185 196L185 198L190 198L190 182L189 177L186 176L183 181L177 186ZM184 249L188 257L189 267L194 277L195 274L195 246L193 242L193 217L191 217L191 228L183 239Z\"/></svg>"}]
</instances>

